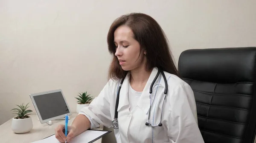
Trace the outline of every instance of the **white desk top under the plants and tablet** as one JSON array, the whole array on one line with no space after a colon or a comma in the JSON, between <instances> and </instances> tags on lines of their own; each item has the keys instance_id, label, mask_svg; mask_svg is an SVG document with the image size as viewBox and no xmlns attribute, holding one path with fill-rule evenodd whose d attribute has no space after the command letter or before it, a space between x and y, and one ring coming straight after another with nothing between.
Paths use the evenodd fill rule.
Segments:
<instances>
[{"instance_id":1,"label":"white desk top under the plants and tablet","mask_svg":"<svg viewBox=\"0 0 256 143\"><path fill-rule=\"evenodd\" d=\"M72 113L70 116L70 120L68 125L71 125L73 120L75 119L77 113ZM55 120L52 121L52 125L48 125L47 123L41 124L37 119L36 115L30 115L33 122L33 128L30 132L24 134L16 134L11 129L12 119L3 123L0 126L0 142L1 143L31 143L36 140L41 140L45 137L49 137L50 135L55 134L55 127L59 124L65 124L64 120ZM102 130L103 126L101 125L98 130ZM101 143L102 138L96 140L94 143Z\"/></svg>"}]
</instances>

